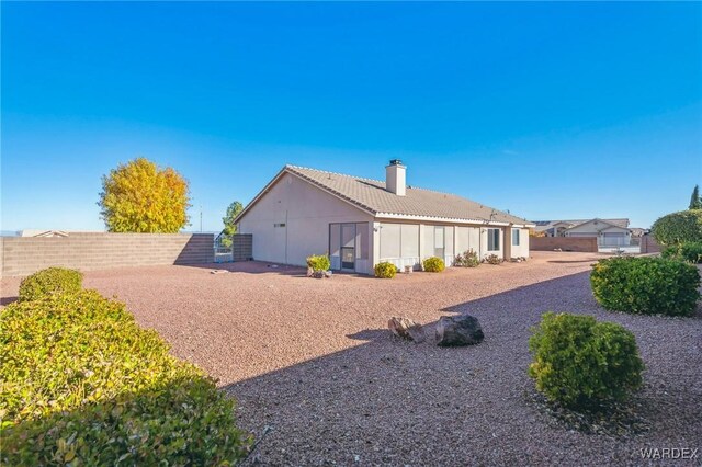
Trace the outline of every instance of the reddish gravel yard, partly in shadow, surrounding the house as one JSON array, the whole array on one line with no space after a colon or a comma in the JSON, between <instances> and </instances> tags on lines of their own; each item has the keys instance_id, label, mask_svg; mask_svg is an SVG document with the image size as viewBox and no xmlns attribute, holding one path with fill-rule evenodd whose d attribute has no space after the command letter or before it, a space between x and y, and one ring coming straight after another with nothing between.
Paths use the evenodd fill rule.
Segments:
<instances>
[{"instance_id":1,"label":"reddish gravel yard, partly in shadow, surrounding the house","mask_svg":"<svg viewBox=\"0 0 702 467\"><path fill-rule=\"evenodd\" d=\"M242 428L271 426L252 459L264 465L641 465L642 448L702 451L702 314L604 311L588 278L601 257L532 254L392 281L234 263L217 266L226 274L212 265L89 272L86 286L126 301L176 355L217 377L238 399ZM2 280L3 303L18 285ZM546 310L636 334L646 372L633 406L647 431L585 434L539 409L526 342ZM390 316L431 324L456 312L479 319L483 343L442 349L386 330Z\"/></svg>"}]
</instances>

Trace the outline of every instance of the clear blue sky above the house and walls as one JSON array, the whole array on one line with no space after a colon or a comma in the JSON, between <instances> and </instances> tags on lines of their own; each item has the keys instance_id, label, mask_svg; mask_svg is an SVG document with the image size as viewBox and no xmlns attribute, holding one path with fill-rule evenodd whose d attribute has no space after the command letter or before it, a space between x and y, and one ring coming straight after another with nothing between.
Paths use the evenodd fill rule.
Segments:
<instances>
[{"instance_id":1,"label":"clear blue sky above the house and walls","mask_svg":"<svg viewBox=\"0 0 702 467\"><path fill-rule=\"evenodd\" d=\"M648 227L702 184L702 3L2 2L3 230L145 156L218 230L285 164Z\"/></svg>"}]
</instances>

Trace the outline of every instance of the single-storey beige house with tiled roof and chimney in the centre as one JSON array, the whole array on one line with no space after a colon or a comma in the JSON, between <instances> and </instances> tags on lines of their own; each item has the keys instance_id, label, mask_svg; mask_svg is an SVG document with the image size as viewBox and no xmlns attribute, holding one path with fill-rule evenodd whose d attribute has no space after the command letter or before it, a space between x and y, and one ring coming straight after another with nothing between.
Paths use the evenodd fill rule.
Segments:
<instances>
[{"instance_id":1,"label":"single-storey beige house with tiled roof and chimney in the centre","mask_svg":"<svg viewBox=\"0 0 702 467\"><path fill-rule=\"evenodd\" d=\"M253 259L305 265L327 252L332 270L372 274L389 261L417 267L429 257L451 264L468 249L482 258L529 257L529 227L510 214L448 193L408 186L393 160L385 181L285 166L235 223L251 234Z\"/></svg>"}]
</instances>

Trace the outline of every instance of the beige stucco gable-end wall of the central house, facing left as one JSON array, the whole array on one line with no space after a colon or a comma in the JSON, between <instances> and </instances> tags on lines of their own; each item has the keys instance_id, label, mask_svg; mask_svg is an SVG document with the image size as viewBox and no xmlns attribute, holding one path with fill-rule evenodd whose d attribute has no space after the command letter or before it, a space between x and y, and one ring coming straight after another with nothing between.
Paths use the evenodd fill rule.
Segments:
<instances>
[{"instance_id":1,"label":"beige stucco gable-end wall of the central house, facing left","mask_svg":"<svg viewBox=\"0 0 702 467\"><path fill-rule=\"evenodd\" d=\"M304 266L308 255L329 250L331 223L369 223L369 251L373 252L369 214L285 173L240 219L239 232L253 235L254 260ZM363 269L359 272L370 273L371 261Z\"/></svg>"}]
</instances>

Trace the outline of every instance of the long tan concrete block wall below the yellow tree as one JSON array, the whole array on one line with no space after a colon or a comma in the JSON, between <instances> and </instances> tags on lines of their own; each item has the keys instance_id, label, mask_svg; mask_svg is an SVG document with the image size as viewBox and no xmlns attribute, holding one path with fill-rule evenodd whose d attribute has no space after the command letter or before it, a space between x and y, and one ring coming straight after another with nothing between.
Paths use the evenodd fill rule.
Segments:
<instances>
[{"instance_id":1,"label":"long tan concrete block wall below the yellow tree","mask_svg":"<svg viewBox=\"0 0 702 467\"><path fill-rule=\"evenodd\" d=\"M214 261L212 234L72 232L68 237L3 237L0 273L23 276L49 266L81 271Z\"/></svg>"}]
</instances>

